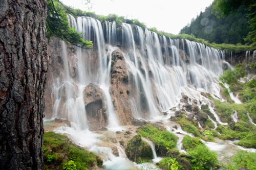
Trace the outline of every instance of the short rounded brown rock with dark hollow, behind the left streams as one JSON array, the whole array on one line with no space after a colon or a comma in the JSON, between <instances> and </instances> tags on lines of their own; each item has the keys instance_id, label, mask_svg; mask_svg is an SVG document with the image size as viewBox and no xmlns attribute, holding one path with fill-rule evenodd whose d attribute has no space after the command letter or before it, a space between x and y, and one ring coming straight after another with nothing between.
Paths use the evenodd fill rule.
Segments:
<instances>
[{"instance_id":1,"label":"short rounded brown rock with dark hollow, behind the left streams","mask_svg":"<svg viewBox=\"0 0 256 170\"><path fill-rule=\"evenodd\" d=\"M103 91L98 85L90 83L83 90L84 106L90 130L102 130L108 125L108 114Z\"/></svg>"}]
</instances>

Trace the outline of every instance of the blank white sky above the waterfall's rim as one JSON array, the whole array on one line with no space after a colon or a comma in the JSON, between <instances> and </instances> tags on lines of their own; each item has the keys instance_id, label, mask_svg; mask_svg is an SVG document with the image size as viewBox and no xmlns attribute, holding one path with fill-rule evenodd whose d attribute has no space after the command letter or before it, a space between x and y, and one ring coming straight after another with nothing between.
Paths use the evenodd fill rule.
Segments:
<instances>
[{"instance_id":1,"label":"blank white sky above the waterfall's rim","mask_svg":"<svg viewBox=\"0 0 256 170\"><path fill-rule=\"evenodd\" d=\"M147 28L179 34L180 30L214 0L61 0L64 4L98 15L117 14L138 19ZM91 7L91 9L89 9Z\"/></svg>"}]
</instances>

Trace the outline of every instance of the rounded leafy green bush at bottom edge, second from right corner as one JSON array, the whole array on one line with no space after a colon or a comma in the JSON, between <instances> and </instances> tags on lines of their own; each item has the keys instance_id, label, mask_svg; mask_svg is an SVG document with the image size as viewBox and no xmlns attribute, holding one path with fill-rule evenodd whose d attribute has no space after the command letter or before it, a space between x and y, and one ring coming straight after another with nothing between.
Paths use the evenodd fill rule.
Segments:
<instances>
[{"instance_id":1,"label":"rounded leafy green bush at bottom edge, second from right corner","mask_svg":"<svg viewBox=\"0 0 256 170\"><path fill-rule=\"evenodd\" d=\"M203 144L197 145L195 149L187 150L187 154L193 157L192 169L203 170L217 167L217 154Z\"/></svg>"}]
</instances>

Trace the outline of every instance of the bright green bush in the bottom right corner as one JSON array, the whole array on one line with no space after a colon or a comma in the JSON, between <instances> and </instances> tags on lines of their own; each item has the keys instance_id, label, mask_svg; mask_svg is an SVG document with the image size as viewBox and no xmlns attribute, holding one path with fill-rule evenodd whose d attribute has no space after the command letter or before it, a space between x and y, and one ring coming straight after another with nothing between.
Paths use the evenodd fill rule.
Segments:
<instances>
[{"instance_id":1,"label":"bright green bush in the bottom right corner","mask_svg":"<svg viewBox=\"0 0 256 170\"><path fill-rule=\"evenodd\" d=\"M256 169L256 153L250 153L246 151L238 151L232 158L232 162L226 166L225 169L237 170L240 167L248 169Z\"/></svg>"}]
</instances>

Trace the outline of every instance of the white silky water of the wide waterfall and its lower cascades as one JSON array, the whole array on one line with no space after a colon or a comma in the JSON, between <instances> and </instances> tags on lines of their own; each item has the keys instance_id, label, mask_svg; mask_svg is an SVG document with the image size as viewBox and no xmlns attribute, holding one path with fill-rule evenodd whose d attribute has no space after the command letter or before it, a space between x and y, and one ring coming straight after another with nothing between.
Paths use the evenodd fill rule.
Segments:
<instances>
[{"instance_id":1,"label":"white silky water of the wide waterfall and its lower cascades","mask_svg":"<svg viewBox=\"0 0 256 170\"><path fill-rule=\"evenodd\" d=\"M214 98L221 98L216 79L223 73L223 64L226 63L223 51L189 40L159 36L155 32L127 23L117 26L116 22L101 23L90 17L74 18L69 15L68 18L70 26L82 33L84 40L93 40L94 48L84 50L74 47L74 52L70 54L67 44L61 42L63 71L54 77L53 112L47 117L70 120L71 128L61 127L56 132L69 134L75 143L102 155L106 169L127 169L134 168L135 165L127 160L121 148L117 157L110 148L95 145L99 142L98 135L89 131L90 124L84 106L83 90L90 83L102 89L108 114L107 128L112 131L121 130L110 91L112 52L117 48L123 53L129 75L129 86L132 89L131 93L134 94L127 100L135 118L154 119L161 117L163 111L169 113L172 107L179 108L179 100L183 92L191 99L202 101L201 104L198 103L199 107L202 104L209 105L210 111L217 120L217 122L212 120L215 127L217 123L227 125L221 122L211 102L201 95L201 91L209 92ZM239 103L232 93L230 96ZM122 116L125 113L119 114ZM233 119L237 120L235 115ZM179 137L177 148L185 152L182 150L182 139L184 135L191 136L191 134L182 131L180 126L168 130L173 130L177 134ZM209 142L206 144L214 145ZM158 159L153 145L152 150L154 158ZM141 166L139 168L143 169L142 166L154 165L136 166Z\"/></svg>"}]
</instances>

